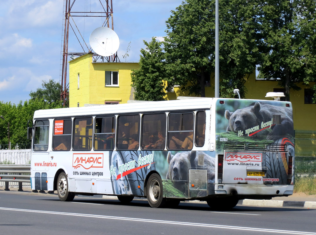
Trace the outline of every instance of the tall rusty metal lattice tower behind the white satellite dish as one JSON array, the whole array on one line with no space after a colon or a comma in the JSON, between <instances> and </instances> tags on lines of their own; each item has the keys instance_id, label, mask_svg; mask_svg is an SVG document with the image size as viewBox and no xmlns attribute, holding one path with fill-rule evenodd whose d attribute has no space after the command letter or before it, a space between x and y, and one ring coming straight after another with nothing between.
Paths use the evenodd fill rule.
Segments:
<instances>
[{"instance_id":1,"label":"tall rusty metal lattice tower behind the white satellite dish","mask_svg":"<svg viewBox=\"0 0 316 235\"><path fill-rule=\"evenodd\" d=\"M86 0L87 1L87 0ZM91 11L91 3L90 3L90 11L85 9L84 11L81 11L80 9L85 4L82 4L82 0L64 0L64 24L63 24L63 39L62 39L62 64L61 64L61 94L60 99L63 101L63 104L65 106L65 102L67 99L69 99L69 83L66 84L67 80L67 64L68 64L68 56L74 55L74 56L81 56L86 53L91 53L92 49L89 45L89 41L84 38L84 34L80 32L80 25L76 24L75 18L84 18L84 17L104 17L105 20L101 21L102 27L113 27L113 8L112 8L112 0L99 0L100 2L100 11ZM87 4L88 5L88 4ZM84 18L85 19L85 18ZM80 21L79 21L80 22ZM85 22L85 21L84 21ZM82 24L82 22L80 23ZM98 26L98 27L101 27ZM95 25L94 28L97 28ZM92 30L91 30L92 32ZM90 32L90 33L91 33ZM70 37L69 37L70 36ZM77 39L77 42L76 42ZM74 41L71 41L74 40ZM72 52L68 51L68 45L71 47L75 46L75 42L79 44L76 44L76 46L81 46L81 52L78 52L79 50L75 50ZM117 52L114 53L112 56L103 57L96 53L93 54L93 61L101 60L102 62L118 62L119 58L117 56ZM119 61L120 62L120 61Z\"/></svg>"}]
</instances>

